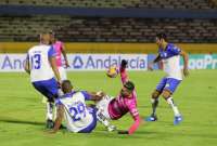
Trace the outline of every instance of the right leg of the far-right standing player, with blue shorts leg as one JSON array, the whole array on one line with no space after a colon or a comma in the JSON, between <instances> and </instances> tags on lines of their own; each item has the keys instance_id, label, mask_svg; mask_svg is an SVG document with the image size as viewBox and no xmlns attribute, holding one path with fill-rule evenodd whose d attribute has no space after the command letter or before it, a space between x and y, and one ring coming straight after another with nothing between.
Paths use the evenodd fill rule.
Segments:
<instances>
[{"instance_id":1,"label":"right leg of the far-right standing player, with blue shorts leg","mask_svg":"<svg viewBox=\"0 0 217 146\"><path fill-rule=\"evenodd\" d=\"M179 85L179 83L180 83L180 80L168 78L166 87L162 93L163 97L166 99L166 102L169 104L169 106L174 110L174 116L175 116L174 124L178 124L182 121L182 117L178 109L178 106L175 104L174 98L171 96L175 90L177 89L177 87Z\"/></svg>"}]
</instances>

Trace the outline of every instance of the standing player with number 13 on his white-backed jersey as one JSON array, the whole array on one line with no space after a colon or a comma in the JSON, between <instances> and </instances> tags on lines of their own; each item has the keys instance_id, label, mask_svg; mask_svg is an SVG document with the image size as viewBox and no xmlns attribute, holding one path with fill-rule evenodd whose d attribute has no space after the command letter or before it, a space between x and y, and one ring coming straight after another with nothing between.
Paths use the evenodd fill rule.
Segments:
<instances>
[{"instance_id":1,"label":"standing player with number 13 on his white-backed jersey","mask_svg":"<svg viewBox=\"0 0 217 146\"><path fill-rule=\"evenodd\" d=\"M30 75L34 88L48 98L47 128L53 127L53 98L58 97L61 82L60 72L55 63L55 51L51 45L49 32L40 35L40 44L28 50L25 70Z\"/></svg>"}]
</instances>

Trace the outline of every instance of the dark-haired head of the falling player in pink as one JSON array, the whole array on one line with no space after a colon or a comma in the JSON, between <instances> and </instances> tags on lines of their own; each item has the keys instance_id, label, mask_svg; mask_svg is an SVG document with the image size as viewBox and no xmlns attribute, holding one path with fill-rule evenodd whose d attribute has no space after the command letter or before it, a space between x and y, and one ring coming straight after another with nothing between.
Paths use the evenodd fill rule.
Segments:
<instances>
[{"instance_id":1,"label":"dark-haired head of the falling player in pink","mask_svg":"<svg viewBox=\"0 0 217 146\"><path fill-rule=\"evenodd\" d=\"M122 88L120 94L123 97L131 97L133 90L135 90L135 83L131 81L127 81Z\"/></svg>"}]
</instances>

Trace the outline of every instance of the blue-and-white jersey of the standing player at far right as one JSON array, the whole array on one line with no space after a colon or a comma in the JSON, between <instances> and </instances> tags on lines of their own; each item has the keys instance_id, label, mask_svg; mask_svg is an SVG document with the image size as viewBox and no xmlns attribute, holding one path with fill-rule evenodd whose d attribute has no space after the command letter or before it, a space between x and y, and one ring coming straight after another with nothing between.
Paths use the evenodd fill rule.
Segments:
<instances>
[{"instance_id":1,"label":"blue-and-white jersey of the standing player at far right","mask_svg":"<svg viewBox=\"0 0 217 146\"><path fill-rule=\"evenodd\" d=\"M158 54L163 61L163 68L167 74L167 78L182 80L180 52L181 50L173 43L168 43L166 49L158 49Z\"/></svg>"}]
</instances>

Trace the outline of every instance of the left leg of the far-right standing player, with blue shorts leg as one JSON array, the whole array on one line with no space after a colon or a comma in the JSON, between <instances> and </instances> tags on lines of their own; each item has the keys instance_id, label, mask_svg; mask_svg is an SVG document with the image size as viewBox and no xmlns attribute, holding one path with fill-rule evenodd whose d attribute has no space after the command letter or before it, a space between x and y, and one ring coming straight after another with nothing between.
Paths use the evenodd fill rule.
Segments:
<instances>
[{"instance_id":1,"label":"left leg of the far-right standing player, with blue shorts leg","mask_svg":"<svg viewBox=\"0 0 217 146\"><path fill-rule=\"evenodd\" d=\"M156 121L156 108L158 106L158 97L166 85L166 78L163 78L156 87L156 90L151 95L151 103L152 103L152 114L150 117L145 118L145 121Z\"/></svg>"}]
</instances>

